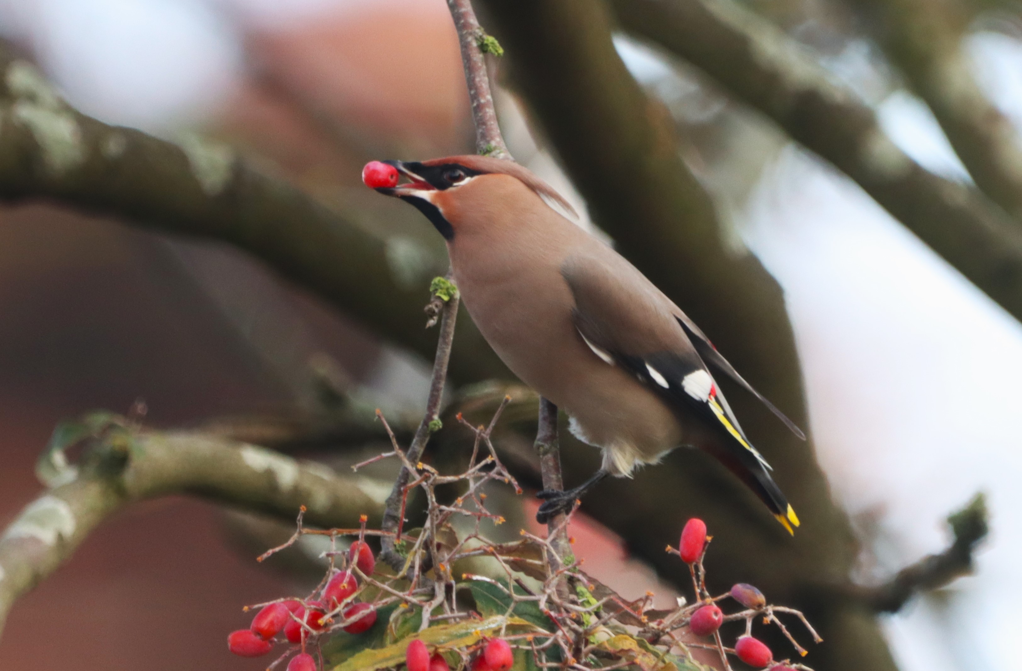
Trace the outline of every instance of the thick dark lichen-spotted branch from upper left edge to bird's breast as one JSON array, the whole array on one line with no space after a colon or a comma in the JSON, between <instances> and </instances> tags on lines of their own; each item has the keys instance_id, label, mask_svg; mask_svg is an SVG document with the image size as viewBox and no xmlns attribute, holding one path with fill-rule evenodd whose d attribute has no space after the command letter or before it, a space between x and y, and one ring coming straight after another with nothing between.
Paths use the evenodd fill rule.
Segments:
<instances>
[{"instance_id":1,"label":"thick dark lichen-spotted branch from upper left edge to bird's breast","mask_svg":"<svg viewBox=\"0 0 1022 671\"><path fill-rule=\"evenodd\" d=\"M86 116L0 45L0 200L40 198L229 242L396 342L432 354L417 317L421 286L402 279L400 257L354 215L253 170L223 145L189 137L179 146ZM459 333L456 378L508 377L470 320Z\"/></svg>"}]
</instances>

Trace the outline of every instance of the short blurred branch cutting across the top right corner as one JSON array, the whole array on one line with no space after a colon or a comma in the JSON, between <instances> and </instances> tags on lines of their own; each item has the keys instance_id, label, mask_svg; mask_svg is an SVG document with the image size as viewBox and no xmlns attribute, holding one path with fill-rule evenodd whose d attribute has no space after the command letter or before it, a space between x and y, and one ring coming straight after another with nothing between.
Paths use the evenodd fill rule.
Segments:
<instances>
[{"instance_id":1,"label":"short blurred branch cutting across the top right corner","mask_svg":"<svg viewBox=\"0 0 1022 671\"><path fill-rule=\"evenodd\" d=\"M1022 137L976 84L962 44L971 14L946 0L855 4L866 10L884 52L933 110L976 186L1022 222Z\"/></svg>"}]
</instances>

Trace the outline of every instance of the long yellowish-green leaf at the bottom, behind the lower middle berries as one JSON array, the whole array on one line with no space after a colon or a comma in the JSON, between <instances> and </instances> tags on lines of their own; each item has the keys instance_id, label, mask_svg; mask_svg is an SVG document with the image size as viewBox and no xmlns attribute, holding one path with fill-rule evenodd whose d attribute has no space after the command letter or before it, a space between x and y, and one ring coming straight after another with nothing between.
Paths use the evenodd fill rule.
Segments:
<instances>
[{"instance_id":1,"label":"long yellowish-green leaf at the bottom, behind the lower middle berries","mask_svg":"<svg viewBox=\"0 0 1022 671\"><path fill-rule=\"evenodd\" d=\"M374 628L380 624L380 620L377 619L376 622L377 624L374 625ZM494 635L505 623L507 624L508 630L513 631L514 633L528 633L530 631L536 631L536 626L525 620L521 620L519 618L505 619L503 617L493 617L486 618L482 621L470 620L468 622L458 622L455 624L429 627L425 631L416 633L412 636L407 636L389 645L379 649L363 650L362 652L340 661L339 664L336 664L336 662L339 661L338 657L340 656L336 655L333 650L328 652L327 648L324 646L323 654L326 657L328 664L336 664L336 666L333 667L333 671L376 671L376 669L385 669L404 664L405 650L408 648L408 644L416 638L421 639L429 648L435 648L437 645L444 645L446 648L467 648L479 642L483 636Z\"/></svg>"}]
</instances>

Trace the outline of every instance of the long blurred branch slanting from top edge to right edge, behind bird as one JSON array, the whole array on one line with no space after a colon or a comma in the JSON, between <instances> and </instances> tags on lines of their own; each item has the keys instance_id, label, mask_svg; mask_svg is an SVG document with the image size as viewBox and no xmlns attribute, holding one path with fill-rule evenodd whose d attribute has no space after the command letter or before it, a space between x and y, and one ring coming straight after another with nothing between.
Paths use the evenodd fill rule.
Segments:
<instances>
[{"instance_id":1,"label":"long blurred branch slanting from top edge to right edge, behind bird","mask_svg":"<svg viewBox=\"0 0 1022 671\"><path fill-rule=\"evenodd\" d=\"M1018 222L975 189L909 158L881 130L873 110L784 33L732 0L613 0L613 5L625 30L685 58L770 116L1022 320Z\"/></svg>"}]
</instances>

